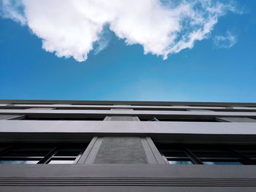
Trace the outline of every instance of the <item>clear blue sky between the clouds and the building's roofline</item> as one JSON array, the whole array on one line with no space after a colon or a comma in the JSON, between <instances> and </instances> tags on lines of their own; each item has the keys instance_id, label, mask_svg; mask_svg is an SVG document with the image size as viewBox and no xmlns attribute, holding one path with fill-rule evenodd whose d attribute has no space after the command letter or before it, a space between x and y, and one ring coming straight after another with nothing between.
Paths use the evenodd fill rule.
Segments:
<instances>
[{"instance_id":1,"label":"clear blue sky between the clouds and the building's roofline","mask_svg":"<svg viewBox=\"0 0 256 192\"><path fill-rule=\"evenodd\" d=\"M108 46L98 54L90 51L83 62L59 58L29 26L2 17L0 99L256 102L256 1L239 1L239 8L243 13L227 12L206 39L166 60L127 45L108 26ZM229 33L234 45L216 42Z\"/></svg>"}]
</instances>

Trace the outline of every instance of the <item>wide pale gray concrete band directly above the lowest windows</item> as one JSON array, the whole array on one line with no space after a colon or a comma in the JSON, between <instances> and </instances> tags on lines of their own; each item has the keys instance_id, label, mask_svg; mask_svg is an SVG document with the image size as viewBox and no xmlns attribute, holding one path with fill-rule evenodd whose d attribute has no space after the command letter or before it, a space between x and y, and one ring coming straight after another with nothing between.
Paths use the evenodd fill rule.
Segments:
<instances>
[{"instance_id":1,"label":"wide pale gray concrete band directly above the lowest windows","mask_svg":"<svg viewBox=\"0 0 256 192\"><path fill-rule=\"evenodd\" d=\"M1 133L256 134L256 123L0 120Z\"/></svg>"}]
</instances>

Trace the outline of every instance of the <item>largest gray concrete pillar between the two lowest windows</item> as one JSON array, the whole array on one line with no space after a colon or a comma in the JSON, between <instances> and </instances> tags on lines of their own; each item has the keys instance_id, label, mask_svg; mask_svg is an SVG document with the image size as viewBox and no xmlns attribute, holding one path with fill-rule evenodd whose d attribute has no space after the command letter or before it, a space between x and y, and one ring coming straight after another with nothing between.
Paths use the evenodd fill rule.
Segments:
<instances>
[{"instance_id":1,"label":"largest gray concrete pillar between the two lowest windows","mask_svg":"<svg viewBox=\"0 0 256 192\"><path fill-rule=\"evenodd\" d=\"M150 137L94 137L79 164L165 164Z\"/></svg>"}]
</instances>

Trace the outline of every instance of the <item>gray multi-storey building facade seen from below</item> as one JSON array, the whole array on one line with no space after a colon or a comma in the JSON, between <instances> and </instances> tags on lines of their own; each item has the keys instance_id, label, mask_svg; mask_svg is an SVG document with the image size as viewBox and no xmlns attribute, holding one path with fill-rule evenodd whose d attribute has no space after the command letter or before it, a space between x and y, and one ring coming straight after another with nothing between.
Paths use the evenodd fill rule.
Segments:
<instances>
[{"instance_id":1,"label":"gray multi-storey building facade seen from below","mask_svg":"<svg viewBox=\"0 0 256 192\"><path fill-rule=\"evenodd\" d=\"M0 101L0 191L256 191L256 104Z\"/></svg>"}]
</instances>

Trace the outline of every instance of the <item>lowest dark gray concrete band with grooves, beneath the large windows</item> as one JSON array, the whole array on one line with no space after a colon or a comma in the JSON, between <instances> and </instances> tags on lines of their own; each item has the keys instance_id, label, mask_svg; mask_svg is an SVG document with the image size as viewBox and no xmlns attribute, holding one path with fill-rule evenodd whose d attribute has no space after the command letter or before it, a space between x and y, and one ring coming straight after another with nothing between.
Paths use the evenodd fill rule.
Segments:
<instances>
[{"instance_id":1,"label":"lowest dark gray concrete band with grooves, beneath the large windows","mask_svg":"<svg viewBox=\"0 0 256 192\"><path fill-rule=\"evenodd\" d=\"M0 165L1 191L255 191L255 166Z\"/></svg>"}]
</instances>

